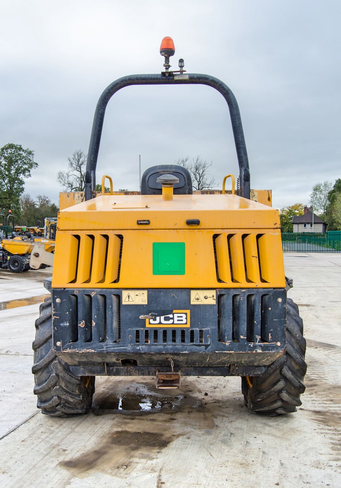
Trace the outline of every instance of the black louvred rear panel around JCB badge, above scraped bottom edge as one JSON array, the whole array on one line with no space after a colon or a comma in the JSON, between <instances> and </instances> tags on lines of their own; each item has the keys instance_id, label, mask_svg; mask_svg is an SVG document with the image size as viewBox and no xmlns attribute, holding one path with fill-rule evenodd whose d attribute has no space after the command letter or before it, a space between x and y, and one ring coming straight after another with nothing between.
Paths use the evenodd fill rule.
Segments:
<instances>
[{"instance_id":1,"label":"black louvred rear panel around JCB badge, above scraped bottom edge","mask_svg":"<svg viewBox=\"0 0 341 488\"><path fill-rule=\"evenodd\" d=\"M152 361L153 354L280 353L285 348L283 288L212 290L215 305L191 305L188 289L147 291L147 305L125 305L122 290L52 289L55 350L148 355ZM190 327L146 326L148 317L174 310L189 310Z\"/></svg>"}]
</instances>

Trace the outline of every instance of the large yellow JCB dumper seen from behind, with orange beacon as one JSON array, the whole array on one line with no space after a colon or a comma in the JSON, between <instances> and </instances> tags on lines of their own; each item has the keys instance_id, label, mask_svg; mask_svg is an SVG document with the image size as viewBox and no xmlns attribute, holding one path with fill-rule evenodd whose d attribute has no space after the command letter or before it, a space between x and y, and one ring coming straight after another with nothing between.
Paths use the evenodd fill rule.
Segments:
<instances>
[{"instance_id":1,"label":"large yellow JCB dumper seen from behind, with orange beacon","mask_svg":"<svg viewBox=\"0 0 341 488\"><path fill-rule=\"evenodd\" d=\"M111 83L100 96L86 166L85 201L59 213L54 269L33 343L34 392L42 413L87 413L95 376L241 376L249 411L301 405L305 340L287 298L278 210L250 200L237 101L222 81L170 70ZM104 112L130 85L204 84L227 102L239 163L239 194L198 195L188 171L147 169L141 195L96 197ZM104 192L103 192L104 193ZM53 326L52 326L53 324Z\"/></svg>"}]
</instances>

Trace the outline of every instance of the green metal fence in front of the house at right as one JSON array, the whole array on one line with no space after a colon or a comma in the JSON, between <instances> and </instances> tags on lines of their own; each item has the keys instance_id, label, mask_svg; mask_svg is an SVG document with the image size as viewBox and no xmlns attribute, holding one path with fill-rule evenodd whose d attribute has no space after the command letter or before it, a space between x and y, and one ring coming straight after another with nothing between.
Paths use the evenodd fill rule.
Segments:
<instances>
[{"instance_id":1,"label":"green metal fence in front of the house at right","mask_svg":"<svg viewBox=\"0 0 341 488\"><path fill-rule=\"evenodd\" d=\"M341 231L282 232L283 252L341 252Z\"/></svg>"}]
</instances>

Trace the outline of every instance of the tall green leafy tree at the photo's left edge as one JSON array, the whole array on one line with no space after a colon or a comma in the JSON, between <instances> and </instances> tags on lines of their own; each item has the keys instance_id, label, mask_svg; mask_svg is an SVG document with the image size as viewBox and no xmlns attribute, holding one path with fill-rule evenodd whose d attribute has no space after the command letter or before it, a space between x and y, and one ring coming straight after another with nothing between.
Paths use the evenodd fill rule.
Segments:
<instances>
[{"instance_id":1,"label":"tall green leafy tree at the photo's left edge","mask_svg":"<svg viewBox=\"0 0 341 488\"><path fill-rule=\"evenodd\" d=\"M34 152L24 149L20 144L6 144L0 149L0 208L5 213L9 209L18 220L20 218L20 195L25 180L31 171L38 167Z\"/></svg>"}]
</instances>

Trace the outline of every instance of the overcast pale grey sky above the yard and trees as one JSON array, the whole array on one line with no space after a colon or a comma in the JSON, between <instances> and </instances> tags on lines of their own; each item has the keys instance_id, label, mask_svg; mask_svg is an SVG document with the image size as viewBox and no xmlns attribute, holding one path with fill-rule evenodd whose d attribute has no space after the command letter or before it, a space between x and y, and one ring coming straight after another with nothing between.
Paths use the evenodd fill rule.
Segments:
<instances>
[{"instance_id":1,"label":"overcast pale grey sky above the yard and trees","mask_svg":"<svg viewBox=\"0 0 341 488\"><path fill-rule=\"evenodd\" d=\"M0 147L35 152L25 191L58 203L56 175L88 150L103 89L159 73L171 36L189 73L224 81L241 110L251 187L277 207L341 177L341 2L0 0ZM238 163L226 102L207 86L127 87L104 120L97 178L139 188L142 171L200 154L218 182Z\"/></svg>"}]
</instances>

